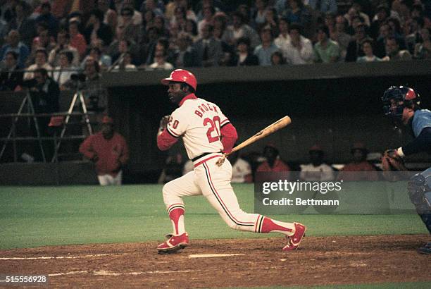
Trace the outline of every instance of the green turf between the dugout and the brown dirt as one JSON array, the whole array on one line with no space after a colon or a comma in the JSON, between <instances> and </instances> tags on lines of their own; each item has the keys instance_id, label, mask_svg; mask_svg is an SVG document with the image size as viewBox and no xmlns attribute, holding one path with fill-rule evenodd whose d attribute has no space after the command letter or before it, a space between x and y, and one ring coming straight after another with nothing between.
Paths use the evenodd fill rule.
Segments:
<instances>
[{"instance_id":1,"label":"green turf between the dugout and the brown dirt","mask_svg":"<svg viewBox=\"0 0 431 289\"><path fill-rule=\"evenodd\" d=\"M251 185L235 185L244 211L252 212ZM163 240L172 230L161 185L121 187L0 187L0 249ZM187 197L186 228L194 239L266 238L232 230L204 197ZM416 214L283 215L300 221L309 236L427 233Z\"/></svg>"}]
</instances>

